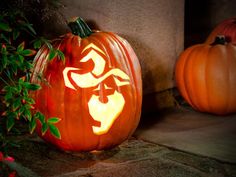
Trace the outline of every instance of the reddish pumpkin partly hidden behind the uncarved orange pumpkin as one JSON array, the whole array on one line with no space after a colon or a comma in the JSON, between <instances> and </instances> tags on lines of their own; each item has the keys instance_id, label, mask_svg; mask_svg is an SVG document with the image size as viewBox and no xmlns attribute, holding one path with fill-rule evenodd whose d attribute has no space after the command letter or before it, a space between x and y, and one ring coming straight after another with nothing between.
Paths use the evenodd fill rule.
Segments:
<instances>
[{"instance_id":1,"label":"reddish pumpkin partly hidden behind the uncarved orange pumpkin","mask_svg":"<svg viewBox=\"0 0 236 177\"><path fill-rule=\"evenodd\" d=\"M236 17L219 23L207 37L206 43L213 43L218 35L224 35L227 42L236 44Z\"/></svg>"}]
</instances>

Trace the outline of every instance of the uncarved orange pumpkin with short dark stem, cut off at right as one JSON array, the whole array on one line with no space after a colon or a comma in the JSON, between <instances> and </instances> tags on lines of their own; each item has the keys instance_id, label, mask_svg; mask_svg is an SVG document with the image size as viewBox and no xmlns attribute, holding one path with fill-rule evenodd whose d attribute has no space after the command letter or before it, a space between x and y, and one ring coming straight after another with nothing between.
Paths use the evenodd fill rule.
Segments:
<instances>
[{"instance_id":1,"label":"uncarved orange pumpkin with short dark stem, cut off at right","mask_svg":"<svg viewBox=\"0 0 236 177\"><path fill-rule=\"evenodd\" d=\"M236 112L236 46L221 42L187 48L175 66L181 95L196 110Z\"/></svg>"}]
</instances>

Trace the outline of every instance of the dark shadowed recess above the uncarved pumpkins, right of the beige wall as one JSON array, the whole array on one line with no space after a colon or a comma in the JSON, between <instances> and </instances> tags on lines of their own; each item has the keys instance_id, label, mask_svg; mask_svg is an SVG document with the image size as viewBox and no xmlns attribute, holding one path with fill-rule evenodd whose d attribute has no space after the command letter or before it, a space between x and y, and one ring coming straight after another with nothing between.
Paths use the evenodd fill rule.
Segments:
<instances>
[{"instance_id":1,"label":"dark shadowed recess above the uncarved pumpkins, right of the beige wall","mask_svg":"<svg viewBox=\"0 0 236 177\"><path fill-rule=\"evenodd\" d=\"M236 0L185 0L185 48L202 43L221 21L236 16Z\"/></svg>"}]
</instances>

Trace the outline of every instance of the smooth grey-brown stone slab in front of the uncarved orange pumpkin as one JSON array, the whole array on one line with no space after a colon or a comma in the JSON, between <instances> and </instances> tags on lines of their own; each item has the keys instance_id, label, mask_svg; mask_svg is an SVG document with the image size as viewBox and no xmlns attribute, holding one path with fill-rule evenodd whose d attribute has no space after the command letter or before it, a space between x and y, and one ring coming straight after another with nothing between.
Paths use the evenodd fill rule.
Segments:
<instances>
[{"instance_id":1,"label":"smooth grey-brown stone slab in front of the uncarved orange pumpkin","mask_svg":"<svg viewBox=\"0 0 236 177\"><path fill-rule=\"evenodd\" d=\"M236 114L216 116L173 107L144 115L139 125L139 139L236 163Z\"/></svg>"}]
</instances>

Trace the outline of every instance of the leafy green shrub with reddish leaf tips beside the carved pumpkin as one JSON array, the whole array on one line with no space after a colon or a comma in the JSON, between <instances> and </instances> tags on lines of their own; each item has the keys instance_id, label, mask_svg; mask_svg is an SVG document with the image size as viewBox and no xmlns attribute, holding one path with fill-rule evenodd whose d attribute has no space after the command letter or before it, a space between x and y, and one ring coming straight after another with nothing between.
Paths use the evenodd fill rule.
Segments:
<instances>
[{"instance_id":1,"label":"leafy green shrub with reddish leaf tips beside the carved pumpkin","mask_svg":"<svg viewBox=\"0 0 236 177\"><path fill-rule=\"evenodd\" d=\"M60 138L55 126L60 119L52 117L46 121L41 112L34 110L35 101L29 94L40 89L30 82L30 75L34 55L42 45L49 48L49 59L56 55L64 59L63 53L54 49L49 40L37 36L22 12L0 13L0 152L6 153L7 134L20 132L18 124L28 124L29 132L33 133L38 120L42 124L42 134L49 130Z\"/></svg>"}]
</instances>

